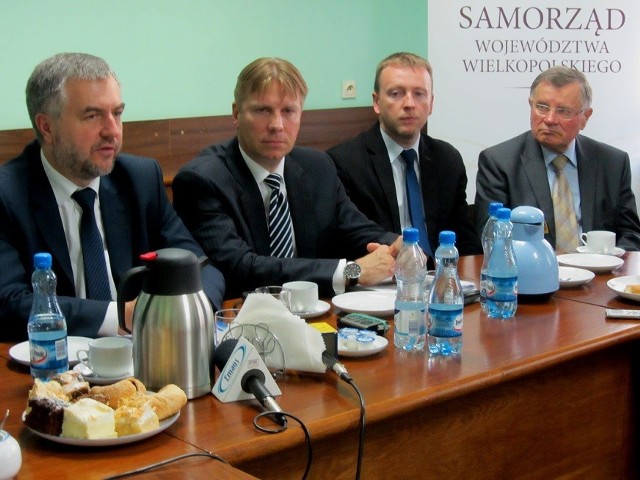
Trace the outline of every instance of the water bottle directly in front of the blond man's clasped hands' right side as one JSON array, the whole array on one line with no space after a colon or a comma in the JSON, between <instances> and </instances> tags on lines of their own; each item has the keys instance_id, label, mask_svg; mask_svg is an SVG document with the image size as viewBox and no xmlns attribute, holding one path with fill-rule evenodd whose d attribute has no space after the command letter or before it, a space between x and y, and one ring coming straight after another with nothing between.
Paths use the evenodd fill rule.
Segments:
<instances>
[{"instance_id":1,"label":"water bottle directly in front of the blond man's clasped hands' right side","mask_svg":"<svg viewBox=\"0 0 640 480\"><path fill-rule=\"evenodd\" d=\"M396 294L393 344L403 350L424 349L427 320L424 280L427 257L418 246L418 230L402 232L403 245L396 258Z\"/></svg>"}]
</instances>

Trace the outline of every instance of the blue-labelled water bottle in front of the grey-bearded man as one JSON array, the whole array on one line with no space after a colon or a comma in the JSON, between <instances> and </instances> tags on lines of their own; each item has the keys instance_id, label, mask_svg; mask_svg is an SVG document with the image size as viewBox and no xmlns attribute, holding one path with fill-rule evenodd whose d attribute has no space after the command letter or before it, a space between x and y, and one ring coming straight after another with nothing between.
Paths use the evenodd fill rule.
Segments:
<instances>
[{"instance_id":1,"label":"blue-labelled water bottle in front of the grey-bearded man","mask_svg":"<svg viewBox=\"0 0 640 480\"><path fill-rule=\"evenodd\" d=\"M51 254L36 253L33 261L33 305L27 325L31 375L48 380L69 370L67 322L56 297L56 275L51 270Z\"/></svg>"}]
</instances>

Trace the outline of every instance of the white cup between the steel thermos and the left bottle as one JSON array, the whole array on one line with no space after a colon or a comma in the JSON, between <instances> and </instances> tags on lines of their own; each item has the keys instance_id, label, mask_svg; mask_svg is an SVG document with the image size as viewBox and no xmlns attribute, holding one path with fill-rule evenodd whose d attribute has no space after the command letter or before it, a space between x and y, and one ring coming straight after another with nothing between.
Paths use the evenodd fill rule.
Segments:
<instances>
[{"instance_id":1,"label":"white cup between the steel thermos and the left bottle","mask_svg":"<svg viewBox=\"0 0 640 480\"><path fill-rule=\"evenodd\" d=\"M89 350L78 350L76 357L98 377L121 377L132 373L133 344L124 337L96 338L89 341Z\"/></svg>"}]
</instances>

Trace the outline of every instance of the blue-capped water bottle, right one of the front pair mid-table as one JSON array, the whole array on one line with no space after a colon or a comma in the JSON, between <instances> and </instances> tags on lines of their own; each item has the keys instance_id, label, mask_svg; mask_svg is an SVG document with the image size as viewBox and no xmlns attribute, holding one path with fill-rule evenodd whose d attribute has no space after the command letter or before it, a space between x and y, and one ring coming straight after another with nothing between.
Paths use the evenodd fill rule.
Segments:
<instances>
[{"instance_id":1,"label":"blue-capped water bottle, right one of the front pair mid-table","mask_svg":"<svg viewBox=\"0 0 640 480\"><path fill-rule=\"evenodd\" d=\"M431 355L458 355L462 350L462 309L464 298L458 276L456 234L440 232L436 275L429 291L427 342Z\"/></svg>"}]
</instances>

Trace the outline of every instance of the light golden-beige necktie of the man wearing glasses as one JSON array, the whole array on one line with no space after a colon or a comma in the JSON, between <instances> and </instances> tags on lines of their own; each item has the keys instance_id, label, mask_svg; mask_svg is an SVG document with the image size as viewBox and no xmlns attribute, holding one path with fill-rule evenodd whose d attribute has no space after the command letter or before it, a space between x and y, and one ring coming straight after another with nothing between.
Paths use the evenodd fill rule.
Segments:
<instances>
[{"instance_id":1,"label":"light golden-beige necktie of the man wearing glasses","mask_svg":"<svg viewBox=\"0 0 640 480\"><path fill-rule=\"evenodd\" d=\"M558 155L552 162L556 178L553 182L551 199L553 200L553 217L556 226L556 251L559 253L575 253L578 248L576 210L567 175L564 172L567 161L567 157Z\"/></svg>"}]
</instances>

